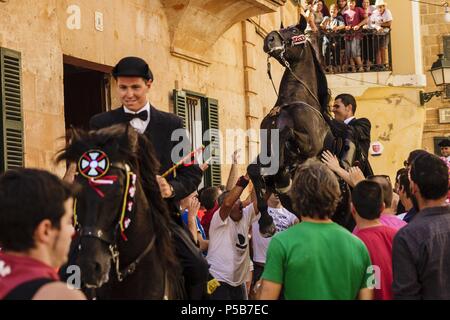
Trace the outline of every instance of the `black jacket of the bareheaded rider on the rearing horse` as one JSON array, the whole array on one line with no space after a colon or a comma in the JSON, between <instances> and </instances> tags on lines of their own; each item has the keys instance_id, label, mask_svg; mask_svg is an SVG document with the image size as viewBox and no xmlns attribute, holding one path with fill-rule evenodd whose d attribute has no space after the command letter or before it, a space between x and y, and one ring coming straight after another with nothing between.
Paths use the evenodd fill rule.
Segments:
<instances>
[{"instance_id":1,"label":"black jacket of the bareheaded rider on the rearing horse","mask_svg":"<svg viewBox=\"0 0 450 320\"><path fill-rule=\"evenodd\" d=\"M370 129L372 127L370 121L366 118L354 118L348 125L356 145L355 160L360 163L360 168L366 177L372 175L373 171L369 163Z\"/></svg>"}]
</instances>

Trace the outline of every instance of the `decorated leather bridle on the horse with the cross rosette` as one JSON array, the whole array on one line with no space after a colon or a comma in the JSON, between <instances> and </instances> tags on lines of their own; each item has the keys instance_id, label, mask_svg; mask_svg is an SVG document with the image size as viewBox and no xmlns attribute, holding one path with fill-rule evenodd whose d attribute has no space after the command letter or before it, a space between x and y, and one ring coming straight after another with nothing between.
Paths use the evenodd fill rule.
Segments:
<instances>
[{"instance_id":1,"label":"decorated leather bridle on the horse with the cross rosette","mask_svg":"<svg viewBox=\"0 0 450 320\"><path fill-rule=\"evenodd\" d=\"M119 221L116 224L116 227L114 228L113 232L105 232L102 229L92 227L92 226L82 226L79 221L77 220L76 215L76 201L74 203L74 225L78 231L78 236L80 239L84 238L95 238L102 242L105 242L108 247L109 251L111 253L112 261L115 265L115 271L117 275L117 280L119 282L122 282L125 277L132 274L136 270L136 266L139 264L139 262L144 258L154 247L156 236L153 235L152 239L150 240L149 244L146 246L144 251L135 259L131 264L129 264L127 267L120 270L120 252L118 250L117 243L119 241L119 234L122 236L122 238L127 241L124 231L127 228L125 219L125 213L127 211L131 212L134 210L134 191L135 191L135 181L136 181L136 175L131 171L131 168L128 164L124 162L115 162L112 163L112 168L117 168L119 170L122 170L125 172L126 176L126 186L125 191L123 195L123 203L121 206L121 216ZM95 188L96 185L101 184L113 184L115 182L115 179L113 179L116 176L110 176L109 179L105 179L108 177L104 177L103 179L88 179L89 185L94 188L94 190L101 196L101 191ZM101 183L99 183L101 181ZM109 182L108 182L109 181ZM97 184L96 184L97 183ZM131 188L134 188L132 190ZM130 196L131 195L131 196ZM120 231L120 232L119 232Z\"/></svg>"}]
</instances>

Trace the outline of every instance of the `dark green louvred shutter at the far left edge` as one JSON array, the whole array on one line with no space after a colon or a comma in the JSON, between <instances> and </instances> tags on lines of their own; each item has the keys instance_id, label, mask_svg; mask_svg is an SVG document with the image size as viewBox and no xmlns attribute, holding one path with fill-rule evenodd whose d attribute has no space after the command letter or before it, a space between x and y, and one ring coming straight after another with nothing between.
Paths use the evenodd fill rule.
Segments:
<instances>
[{"instance_id":1,"label":"dark green louvred shutter at the far left edge","mask_svg":"<svg viewBox=\"0 0 450 320\"><path fill-rule=\"evenodd\" d=\"M0 172L24 166L20 52L0 48Z\"/></svg>"}]
</instances>

